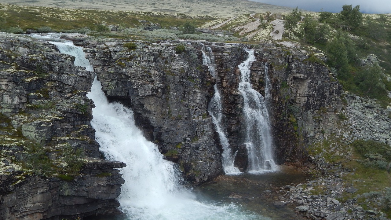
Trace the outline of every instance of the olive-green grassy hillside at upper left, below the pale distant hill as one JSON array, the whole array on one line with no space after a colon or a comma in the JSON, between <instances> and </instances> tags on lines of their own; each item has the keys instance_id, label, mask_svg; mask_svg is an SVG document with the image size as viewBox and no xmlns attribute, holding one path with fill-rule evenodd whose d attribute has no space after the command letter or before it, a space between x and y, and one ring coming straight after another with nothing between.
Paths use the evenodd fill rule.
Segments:
<instances>
[{"instance_id":1,"label":"olive-green grassy hillside at upper left, below the pale distant hill","mask_svg":"<svg viewBox=\"0 0 391 220\"><path fill-rule=\"evenodd\" d=\"M0 29L20 27L37 29L50 27L53 31L87 28L94 30L97 24L119 24L123 27L139 27L144 21L158 23L161 27L179 26L186 21L195 25L216 19L212 16L187 16L185 14L127 12L87 9L64 9L0 4Z\"/></svg>"}]
</instances>

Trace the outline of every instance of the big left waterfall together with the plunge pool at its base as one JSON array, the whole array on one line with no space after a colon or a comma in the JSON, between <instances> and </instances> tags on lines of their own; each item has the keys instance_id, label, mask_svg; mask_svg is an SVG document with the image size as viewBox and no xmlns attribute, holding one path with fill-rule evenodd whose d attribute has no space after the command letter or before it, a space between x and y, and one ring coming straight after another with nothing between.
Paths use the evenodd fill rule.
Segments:
<instances>
[{"instance_id":1,"label":"big left waterfall together with the plunge pool at its base","mask_svg":"<svg viewBox=\"0 0 391 220\"><path fill-rule=\"evenodd\" d=\"M50 39L48 39L50 40ZM93 70L81 47L70 41L51 42L63 53L75 56L75 65ZM294 220L300 217L285 207L275 209L262 193L271 185L291 184L303 175L270 172L262 175L222 176L193 191L183 188L180 171L142 131L135 126L133 111L120 103L109 103L100 82L95 79L87 95L95 103L91 125L96 140L108 160L127 164L121 173L125 179L118 201L126 217L94 216L94 220ZM299 180L296 181L296 179ZM230 195L239 195L230 198ZM274 198L272 198L273 200ZM267 217L265 217L267 216Z\"/></svg>"}]
</instances>

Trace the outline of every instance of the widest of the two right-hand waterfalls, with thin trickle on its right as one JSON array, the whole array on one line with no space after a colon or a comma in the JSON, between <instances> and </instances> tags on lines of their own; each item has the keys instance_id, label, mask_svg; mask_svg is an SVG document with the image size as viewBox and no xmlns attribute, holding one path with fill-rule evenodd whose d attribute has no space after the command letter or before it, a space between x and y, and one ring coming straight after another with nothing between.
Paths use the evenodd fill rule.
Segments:
<instances>
[{"instance_id":1,"label":"widest of the two right-hand waterfalls, with thin trickle on its right","mask_svg":"<svg viewBox=\"0 0 391 220\"><path fill-rule=\"evenodd\" d=\"M276 170L273 160L273 144L267 112L267 99L270 95L270 81L265 71L265 97L254 90L250 83L250 67L255 61L254 50L246 50L248 58L240 63L239 91L243 99L243 119L245 126L245 146L248 152L248 171L259 173L264 170Z\"/></svg>"}]
</instances>

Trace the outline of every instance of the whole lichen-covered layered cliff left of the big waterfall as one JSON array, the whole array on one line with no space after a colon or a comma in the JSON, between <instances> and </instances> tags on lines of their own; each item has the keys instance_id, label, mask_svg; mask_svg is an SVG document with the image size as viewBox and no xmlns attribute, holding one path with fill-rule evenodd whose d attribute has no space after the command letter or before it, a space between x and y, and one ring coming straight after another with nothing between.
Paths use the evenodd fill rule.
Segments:
<instances>
[{"instance_id":1,"label":"whole lichen-covered layered cliff left of the big waterfall","mask_svg":"<svg viewBox=\"0 0 391 220\"><path fill-rule=\"evenodd\" d=\"M125 164L101 159L86 97L95 74L73 61L52 44L0 33L0 219L117 212L124 180L115 168Z\"/></svg>"}]
</instances>

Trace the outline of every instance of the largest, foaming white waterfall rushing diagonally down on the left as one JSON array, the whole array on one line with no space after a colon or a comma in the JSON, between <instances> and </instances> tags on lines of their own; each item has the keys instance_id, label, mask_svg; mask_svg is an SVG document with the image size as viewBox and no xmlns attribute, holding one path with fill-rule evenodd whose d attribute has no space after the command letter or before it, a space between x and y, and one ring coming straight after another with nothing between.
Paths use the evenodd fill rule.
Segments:
<instances>
[{"instance_id":1,"label":"largest, foaming white waterfall rushing diagonally down on the left","mask_svg":"<svg viewBox=\"0 0 391 220\"><path fill-rule=\"evenodd\" d=\"M75 65L92 71L81 47L72 42L56 43L63 53L76 57ZM80 62L79 62L80 61ZM136 128L133 111L108 103L95 79L87 95L95 103L91 125L106 159L127 164L121 170L125 183L118 198L129 220L266 220L241 211L235 204L199 202L179 184L173 164L163 159L157 147Z\"/></svg>"}]
</instances>

